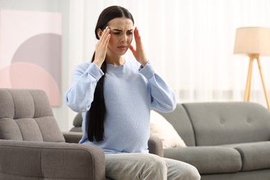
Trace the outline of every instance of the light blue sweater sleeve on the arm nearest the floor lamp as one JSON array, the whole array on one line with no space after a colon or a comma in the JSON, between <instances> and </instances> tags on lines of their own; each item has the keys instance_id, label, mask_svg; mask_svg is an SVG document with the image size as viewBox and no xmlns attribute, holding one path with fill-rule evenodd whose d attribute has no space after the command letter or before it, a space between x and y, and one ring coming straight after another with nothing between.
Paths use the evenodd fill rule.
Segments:
<instances>
[{"instance_id":1,"label":"light blue sweater sleeve on the arm nearest the floor lamp","mask_svg":"<svg viewBox=\"0 0 270 180\"><path fill-rule=\"evenodd\" d=\"M177 105L174 92L155 72L154 66L148 61L139 72L145 76L150 84L151 108L163 112L173 111Z\"/></svg>"}]
</instances>

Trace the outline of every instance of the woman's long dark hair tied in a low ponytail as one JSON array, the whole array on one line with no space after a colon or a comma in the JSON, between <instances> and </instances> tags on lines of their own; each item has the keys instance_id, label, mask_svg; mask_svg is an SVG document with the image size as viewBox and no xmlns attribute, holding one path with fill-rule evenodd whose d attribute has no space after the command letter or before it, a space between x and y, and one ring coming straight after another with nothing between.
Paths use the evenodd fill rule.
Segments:
<instances>
[{"instance_id":1,"label":"woman's long dark hair tied in a low ponytail","mask_svg":"<svg viewBox=\"0 0 270 180\"><path fill-rule=\"evenodd\" d=\"M98 29L104 30L111 19L116 17L127 17L131 19L134 24L134 19L132 14L125 8L120 6L109 6L105 8L98 17L98 22L95 28L96 38L98 37ZM93 53L92 62L95 60L95 53ZM106 73L106 60L102 63L100 69L103 73ZM88 139L89 141L103 141L104 137L104 121L106 114L105 100L103 95L103 84L104 84L105 75L102 75L100 80L96 84L96 89L93 95L93 102L91 103L91 108L88 111Z\"/></svg>"}]
</instances>

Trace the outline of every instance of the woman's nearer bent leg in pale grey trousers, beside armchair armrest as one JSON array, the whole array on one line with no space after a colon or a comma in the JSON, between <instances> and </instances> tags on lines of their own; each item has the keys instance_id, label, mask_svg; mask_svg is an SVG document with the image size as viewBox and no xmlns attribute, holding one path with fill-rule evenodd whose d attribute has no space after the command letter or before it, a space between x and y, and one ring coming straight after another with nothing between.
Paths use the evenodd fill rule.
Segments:
<instances>
[{"instance_id":1,"label":"woman's nearer bent leg in pale grey trousers, beside armchair armrest","mask_svg":"<svg viewBox=\"0 0 270 180\"><path fill-rule=\"evenodd\" d=\"M111 179L167 179L167 164L153 154L105 154L106 176Z\"/></svg>"}]
</instances>

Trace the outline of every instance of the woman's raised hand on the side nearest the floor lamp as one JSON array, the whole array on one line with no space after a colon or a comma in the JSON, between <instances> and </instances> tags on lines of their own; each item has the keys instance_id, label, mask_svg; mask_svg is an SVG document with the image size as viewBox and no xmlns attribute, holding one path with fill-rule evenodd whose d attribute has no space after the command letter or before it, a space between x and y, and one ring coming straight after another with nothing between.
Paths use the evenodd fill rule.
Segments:
<instances>
[{"instance_id":1,"label":"woman's raised hand on the side nearest the floor lamp","mask_svg":"<svg viewBox=\"0 0 270 180\"><path fill-rule=\"evenodd\" d=\"M142 66L145 66L148 60L147 60L145 49L143 48L143 43L141 42L141 36L138 33L137 27L134 29L134 37L135 37L135 42L136 42L136 50L131 44L129 46L129 49L132 51L136 60L140 62Z\"/></svg>"}]
</instances>

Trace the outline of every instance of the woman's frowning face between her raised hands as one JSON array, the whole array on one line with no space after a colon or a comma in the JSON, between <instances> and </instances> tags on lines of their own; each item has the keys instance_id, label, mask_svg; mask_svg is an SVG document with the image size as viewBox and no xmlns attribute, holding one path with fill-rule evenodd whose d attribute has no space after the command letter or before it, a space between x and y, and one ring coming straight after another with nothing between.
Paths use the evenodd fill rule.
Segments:
<instances>
[{"instance_id":1,"label":"woman's frowning face between her raised hands","mask_svg":"<svg viewBox=\"0 0 270 180\"><path fill-rule=\"evenodd\" d=\"M111 19L108 26L111 38L109 39L107 53L111 55L124 55L133 39L133 22L126 17Z\"/></svg>"}]
</instances>

